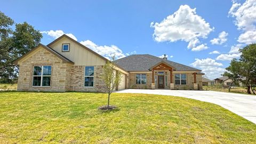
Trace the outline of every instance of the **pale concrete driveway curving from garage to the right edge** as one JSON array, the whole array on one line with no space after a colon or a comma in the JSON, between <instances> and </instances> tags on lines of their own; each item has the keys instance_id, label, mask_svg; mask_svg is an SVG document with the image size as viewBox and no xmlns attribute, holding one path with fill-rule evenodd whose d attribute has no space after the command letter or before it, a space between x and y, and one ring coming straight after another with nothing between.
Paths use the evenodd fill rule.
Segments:
<instances>
[{"instance_id":1,"label":"pale concrete driveway curving from garage to the right edge","mask_svg":"<svg viewBox=\"0 0 256 144\"><path fill-rule=\"evenodd\" d=\"M205 102L215 103L233 113L242 116L256 124L256 96L247 94L215 92L215 91L190 91L190 90L137 90L127 89L116 93L147 93L173 95Z\"/></svg>"}]
</instances>

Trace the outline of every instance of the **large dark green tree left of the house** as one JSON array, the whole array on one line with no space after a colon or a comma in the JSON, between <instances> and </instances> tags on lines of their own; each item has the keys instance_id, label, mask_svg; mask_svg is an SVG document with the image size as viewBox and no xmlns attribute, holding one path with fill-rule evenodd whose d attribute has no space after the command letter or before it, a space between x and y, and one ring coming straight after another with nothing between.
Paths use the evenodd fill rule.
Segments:
<instances>
[{"instance_id":1,"label":"large dark green tree left of the house","mask_svg":"<svg viewBox=\"0 0 256 144\"><path fill-rule=\"evenodd\" d=\"M39 30L27 22L15 24L14 21L0 11L0 79L12 82L17 78L18 66L13 61L38 45L43 37Z\"/></svg>"}]
</instances>

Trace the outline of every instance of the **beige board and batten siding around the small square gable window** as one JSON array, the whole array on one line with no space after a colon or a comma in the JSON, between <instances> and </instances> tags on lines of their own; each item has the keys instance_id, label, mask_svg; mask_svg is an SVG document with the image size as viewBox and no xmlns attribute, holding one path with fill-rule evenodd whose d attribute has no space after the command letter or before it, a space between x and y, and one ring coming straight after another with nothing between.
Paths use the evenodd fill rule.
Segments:
<instances>
[{"instance_id":1,"label":"beige board and batten siding around the small square gable window","mask_svg":"<svg viewBox=\"0 0 256 144\"><path fill-rule=\"evenodd\" d=\"M67 43L70 44L69 52L62 52L62 44ZM61 38L58 42L53 43L49 47L73 61L75 66L100 66L106 63L106 61L98 55L86 50L84 47L70 41L70 39L66 37Z\"/></svg>"}]
</instances>

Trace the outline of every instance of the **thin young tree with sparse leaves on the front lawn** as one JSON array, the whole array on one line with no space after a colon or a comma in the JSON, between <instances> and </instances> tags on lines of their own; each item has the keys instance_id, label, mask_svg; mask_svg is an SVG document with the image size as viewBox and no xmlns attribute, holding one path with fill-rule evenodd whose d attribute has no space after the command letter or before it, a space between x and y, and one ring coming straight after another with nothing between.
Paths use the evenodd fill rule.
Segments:
<instances>
[{"instance_id":1,"label":"thin young tree with sparse leaves on the front lawn","mask_svg":"<svg viewBox=\"0 0 256 144\"><path fill-rule=\"evenodd\" d=\"M106 89L108 92L108 105L107 109L109 108L109 101L110 101L110 94L113 92L116 86L121 83L121 74L115 69L114 61L115 57L112 57L112 61L107 61L107 63L103 66L103 74L102 79L106 85Z\"/></svg>"}]
</instances>

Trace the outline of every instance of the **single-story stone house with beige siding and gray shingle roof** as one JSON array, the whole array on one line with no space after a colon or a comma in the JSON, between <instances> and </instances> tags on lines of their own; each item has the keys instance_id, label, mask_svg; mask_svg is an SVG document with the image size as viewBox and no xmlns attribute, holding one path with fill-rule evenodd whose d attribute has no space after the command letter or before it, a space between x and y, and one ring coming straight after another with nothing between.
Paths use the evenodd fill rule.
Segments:
<instances>
[{"instance_id":1,"label":"single-story stone house with beige siding and gray shingle roof","mask_svg":"<svg viewBox=\"0 0 256 144\"><path fill-rule=\"evenodd\" d=\"M108 59L67 35L39 44L14 63L19 65L18 91L105 92L101 79ZM135 54L115 62L122 89L202 89L201 70L167 58Z\"/></svg>"}]
</instances>

